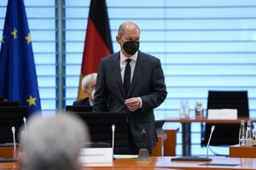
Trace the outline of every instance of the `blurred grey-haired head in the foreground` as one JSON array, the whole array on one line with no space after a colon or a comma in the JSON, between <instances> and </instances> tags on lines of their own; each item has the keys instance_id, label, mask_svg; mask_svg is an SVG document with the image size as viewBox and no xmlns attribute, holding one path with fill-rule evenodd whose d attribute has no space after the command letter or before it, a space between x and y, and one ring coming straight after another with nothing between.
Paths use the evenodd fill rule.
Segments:
<instances>
[{"instance_id":1,"label":"blurred grey-haired head in the foreground","mask_svg":"<svg viewBox=\"0 0 256 170\"><path fill-rule=\"evenodd\" d=\"M90 136L84 122L71 114L33 116L22 137L21 170L77 170L78 156Z\"/></svg>"}]
</instances>

